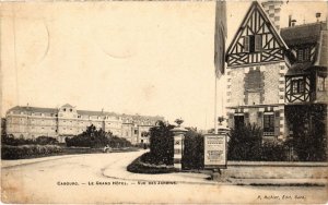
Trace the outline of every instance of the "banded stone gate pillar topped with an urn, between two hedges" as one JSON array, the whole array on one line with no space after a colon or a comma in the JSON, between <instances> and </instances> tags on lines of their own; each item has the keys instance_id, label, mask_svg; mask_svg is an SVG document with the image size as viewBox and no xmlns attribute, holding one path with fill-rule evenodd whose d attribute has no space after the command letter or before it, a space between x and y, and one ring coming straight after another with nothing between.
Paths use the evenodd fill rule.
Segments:
<instances>
[{"instance_id":1,"label":"banded stone gate pillar topped with an urn, between two hedges","mask_svg":"<svg viewBox=\"0 0 328 205\"><path fill-rule=\"evenodd\" d=\"M184 154L184 141L185 141L185 133L187 132L186 129L177 126L172 129L174 134L174 168L181 169L181 159Z\"/></svg>"}]
</instances>

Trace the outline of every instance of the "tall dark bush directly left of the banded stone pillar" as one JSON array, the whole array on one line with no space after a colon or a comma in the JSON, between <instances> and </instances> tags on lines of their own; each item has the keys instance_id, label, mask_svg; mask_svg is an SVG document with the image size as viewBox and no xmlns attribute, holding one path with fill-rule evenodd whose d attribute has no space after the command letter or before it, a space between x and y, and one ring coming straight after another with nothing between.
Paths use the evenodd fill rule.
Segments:
<instances>
[{"instance_id":1,"label":"tall dark bush directly left of the banded stone pillar","mask_svg":"<svg viewBox=\"0 0 328 205\"><path fill-rule=\"evenodd\" d=\"M150 129L150 155L156 165L173 165L173 128L174 125L159 121L157 126Z\"/></svg>"}]
</instances>

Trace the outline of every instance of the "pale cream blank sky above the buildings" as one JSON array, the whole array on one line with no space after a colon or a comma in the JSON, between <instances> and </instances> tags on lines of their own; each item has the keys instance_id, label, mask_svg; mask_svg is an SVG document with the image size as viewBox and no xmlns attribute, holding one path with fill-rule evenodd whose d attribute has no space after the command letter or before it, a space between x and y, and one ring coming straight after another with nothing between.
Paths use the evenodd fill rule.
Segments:
<instances>
[{"instance_id":1,"label":"pale cream blank sky above the buildings","mask_svg":"<svg viewBox=\"0 0 328 205\"><path fill-rule=\"evenodd\" d=\"M163 116L213 128L214 1L1 3L1 116L16 105ZM227 1L226 47L250 1ZM325 1L289 1L297 24ZM224 114L225 77L218 82Z\"/></svg>"}]
</instances>

